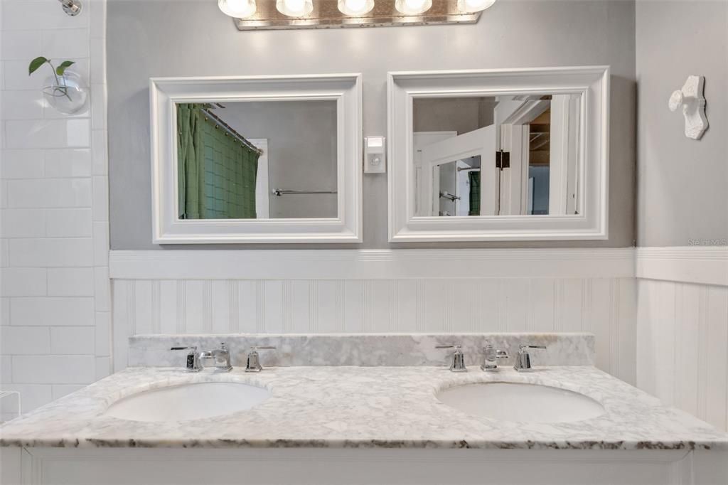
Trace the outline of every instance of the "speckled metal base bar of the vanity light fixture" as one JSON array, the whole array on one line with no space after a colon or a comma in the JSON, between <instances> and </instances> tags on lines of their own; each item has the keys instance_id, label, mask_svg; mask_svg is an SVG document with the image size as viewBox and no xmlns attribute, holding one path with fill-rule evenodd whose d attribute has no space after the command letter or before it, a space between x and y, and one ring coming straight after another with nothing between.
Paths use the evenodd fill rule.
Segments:
<instances>
[{"instance_id":1,"label":"speckled metal base bar of the vanity light fixture","mask_svg":"<svg viewBox=\"0 0 728 485\"><path fill-rule=\"evenodd\" d=\"M339 11L337 0L317 0L314 1L314 10L310 15L296 18L278 12L274 1L258 1L255 15L236 18L234 23L240 31L441 25L477 23L481 13L460 12L457 0L432 0L432 8L422 15L403 15L395 8L395 0L376 0L371 12L361 17L351 17Z\"/></svg>"}]
</instances>

